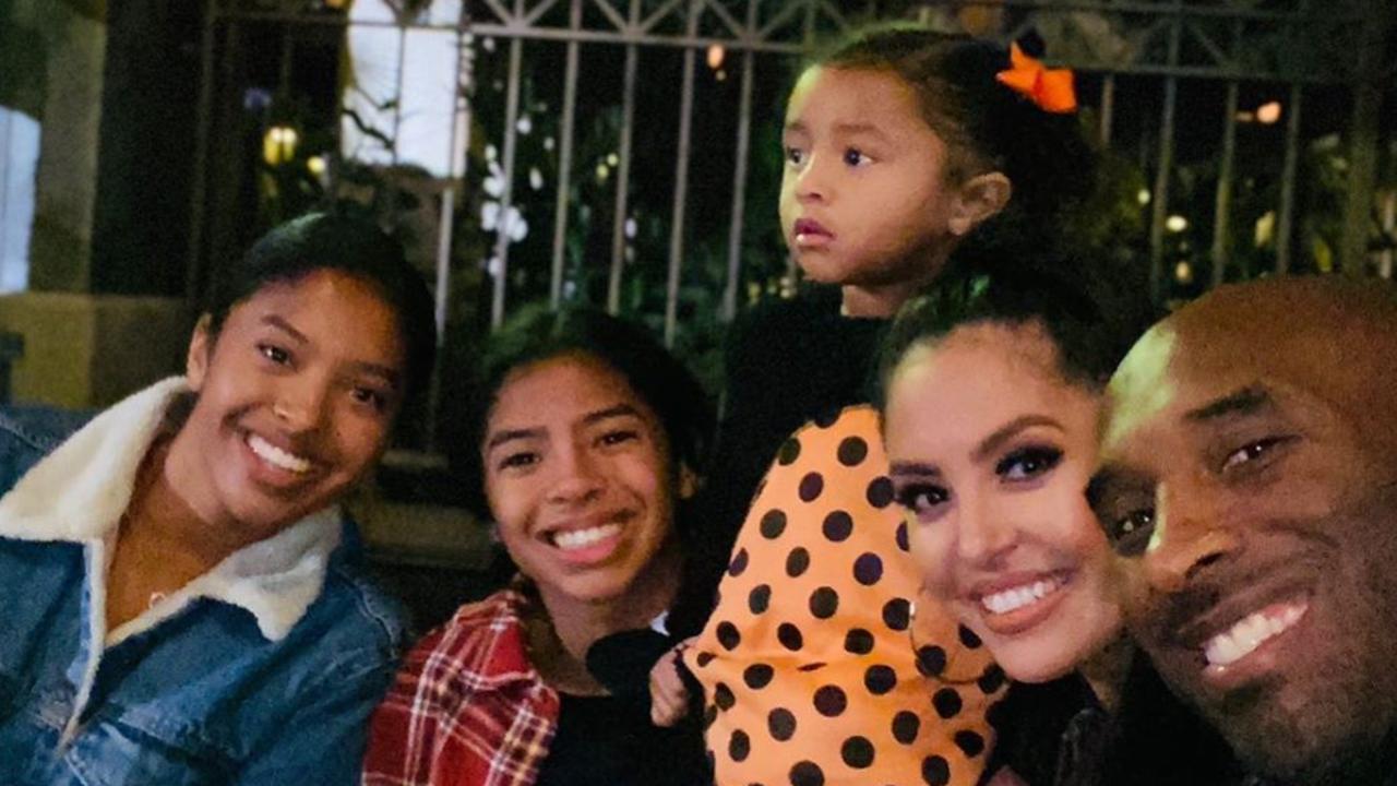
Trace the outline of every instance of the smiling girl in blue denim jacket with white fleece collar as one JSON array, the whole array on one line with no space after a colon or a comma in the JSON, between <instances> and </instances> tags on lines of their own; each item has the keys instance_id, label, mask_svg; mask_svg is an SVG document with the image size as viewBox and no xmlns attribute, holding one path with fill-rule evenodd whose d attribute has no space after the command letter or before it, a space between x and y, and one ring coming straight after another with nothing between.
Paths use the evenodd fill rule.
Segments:
<instances>
[{"instance_id":1,"label":"smiling girl in blue denim jacket with white fleece collar","mask_svg":"<svg viewBox=\"0 0 1397 786\"><path fill-rule=\"evenodd\" d=\"M434 347L401 248L310 215L226 273L183 378L66 441L0 418L0 782L355 782L401 625L337 502Z\"/></svg>"}]
</instances>

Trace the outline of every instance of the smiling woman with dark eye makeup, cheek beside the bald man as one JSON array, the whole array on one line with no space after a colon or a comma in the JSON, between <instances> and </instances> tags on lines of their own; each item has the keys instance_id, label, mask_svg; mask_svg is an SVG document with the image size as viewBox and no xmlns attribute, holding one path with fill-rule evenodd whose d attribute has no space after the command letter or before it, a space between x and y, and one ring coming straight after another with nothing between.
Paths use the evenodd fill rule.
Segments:
<instances>
[{"instance_id":1,"label":"smiling woman with dark eye makeup, cheek beside the bald man","mask_svg":"<svg viewBox=\"0 0 1397 786\"><path fill-rule=\"evenodd\" d=\"M1132 670L1085 498L1101 394L1150 312L1111 296L1106 270L1042 249L963 249L963 262L968 274L904 306L880 378L890 477L925 586L1011 680L1032 684L995 708L985 775L1220 782L1225 748L1143 663Z\"/></svg>"}]
</instances>

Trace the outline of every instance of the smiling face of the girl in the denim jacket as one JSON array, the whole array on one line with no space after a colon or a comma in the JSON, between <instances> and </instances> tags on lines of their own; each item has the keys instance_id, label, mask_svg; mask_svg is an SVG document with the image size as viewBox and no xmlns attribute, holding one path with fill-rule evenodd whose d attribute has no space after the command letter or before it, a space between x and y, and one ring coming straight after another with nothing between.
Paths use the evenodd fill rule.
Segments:
<instances>
[{"instance_id":1,"label":"smiling face of the girl in the denim jacket","mask_svg":"<svg viewBox=\"0 0 1397 786\"><path fill-rule=\"evenodd\" d=\"M187 379L198 401L166 477L205 522L251 540L338 501L383 452L402 397L398 317L374 288L317 270L201 322Z\"/></svg>"}]
</instances>

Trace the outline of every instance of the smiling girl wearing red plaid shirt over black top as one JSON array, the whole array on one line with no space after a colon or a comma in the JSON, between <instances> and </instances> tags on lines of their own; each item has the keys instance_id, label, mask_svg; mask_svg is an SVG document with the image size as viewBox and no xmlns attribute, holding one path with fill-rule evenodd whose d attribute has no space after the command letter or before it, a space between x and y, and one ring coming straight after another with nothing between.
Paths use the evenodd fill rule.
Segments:
<instances>
[{"instance_id":1,"label":"smiling girl wearing red plaid shirt over black top","mask_svg":"<svg viewBox=\"0 0 1397 786\"><path fill-rule=\"evenodd\" d=\"M613 694L588 660L673 601L712 425L701 387L612 316L525 312L490 338L474 396L476 501L520 575L408 656L365 783L707 783L697 726L652 726L648 695Z\"/></svg>"}]
</instances>

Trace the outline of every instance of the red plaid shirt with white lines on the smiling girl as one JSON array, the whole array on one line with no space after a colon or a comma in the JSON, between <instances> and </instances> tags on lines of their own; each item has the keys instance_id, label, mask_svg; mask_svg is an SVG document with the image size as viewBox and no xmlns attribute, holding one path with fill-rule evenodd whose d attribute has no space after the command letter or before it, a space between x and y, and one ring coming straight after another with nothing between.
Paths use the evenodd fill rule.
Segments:
<instances>
[{"instance_id":1,"label":"red plaid shirt with white lines on the smiling girl","mask_svg":"<svg viewBox=\"0 0 1397 786\"><path fill-rule=\"evenodd\" d=\"M462 606L408 655L373 715L365 786L527 786L557 729L507 589Z\"/></svg>"}]
</instances>

